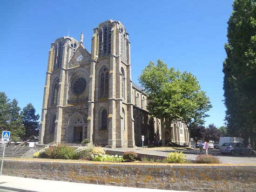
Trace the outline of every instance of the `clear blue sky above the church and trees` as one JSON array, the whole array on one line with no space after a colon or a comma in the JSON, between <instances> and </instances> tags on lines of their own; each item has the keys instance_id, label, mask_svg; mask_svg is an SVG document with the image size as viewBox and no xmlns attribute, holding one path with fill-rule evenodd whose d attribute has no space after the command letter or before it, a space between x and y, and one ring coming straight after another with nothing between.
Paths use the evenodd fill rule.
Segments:
<instances>
[{"instance_id":1,"label":"clear blue sky above the church and trees","mask_svg":"<svg viewBox=\"0 0 256 192\"><path fill-rule=\"evenodd\" d=\"M132 79L152 60L194 74L213 107L205 126L224 125L222 63L233 0L2 0L0 92L41 115L48 51L70 36L91 51L93 28L119 20L131 42Z\"/></svg>"}]
</instances>

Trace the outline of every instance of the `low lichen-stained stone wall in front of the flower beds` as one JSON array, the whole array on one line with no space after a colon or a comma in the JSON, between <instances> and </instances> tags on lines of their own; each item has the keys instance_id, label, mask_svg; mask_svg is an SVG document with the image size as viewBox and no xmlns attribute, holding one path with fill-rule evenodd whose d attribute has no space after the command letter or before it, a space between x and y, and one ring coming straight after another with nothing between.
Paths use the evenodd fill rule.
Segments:
<instances>
[{"instance_id":1,"label":"low lichen-stained stone wall in front of the flower beds","mask_svg":"<svg viewBox=\"0 0 256 192\"><path fill-rule=\"evenodd\" d=\"M198 192L255 192L256 165L5 160L3 175Z\"/></svg>"}]
</instances>

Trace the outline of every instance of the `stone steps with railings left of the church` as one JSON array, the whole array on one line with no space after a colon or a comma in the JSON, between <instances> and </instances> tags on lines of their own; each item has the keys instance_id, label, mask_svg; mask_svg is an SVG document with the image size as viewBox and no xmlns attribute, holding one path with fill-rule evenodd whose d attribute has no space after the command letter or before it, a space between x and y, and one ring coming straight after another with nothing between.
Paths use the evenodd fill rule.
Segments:
<instances>
[{"instance_id":1,"label":"stone steps with railings left of the church","mask_svg":"<svg viewBox=\"0 0 256 192\"><path fill-rule=\"evenodd\" d=\"M12 146L8 146L5 148L5 156L4 157L33 157L34 150L33 147L25 147L20 149L20 151L15 152L15 148ZM3 155L3 150L0 151L0 157Z\"/></svg>"}]
</instances>

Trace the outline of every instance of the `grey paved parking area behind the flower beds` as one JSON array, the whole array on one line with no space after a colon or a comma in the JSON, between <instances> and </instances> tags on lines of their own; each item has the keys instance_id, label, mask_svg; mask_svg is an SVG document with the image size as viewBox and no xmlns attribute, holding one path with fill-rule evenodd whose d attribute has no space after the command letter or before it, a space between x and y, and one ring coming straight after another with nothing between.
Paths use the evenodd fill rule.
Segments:
<instances>
[{"instance_id":1,"label":"grey paved parking area behind the flower beds","mask_svg":"<svg viewBox=\"0 0 256 192\"><path fill-rule=\"evenodd\" d=\"M187 159L195 160L197 155L203 154L203 152L200 152L198 149L195 150L162 150L161 147L156 147L153 150L149 150L148 148L115 148L115 149L109 149L105 148L106 150L111 151L135 151L142 154L151 154L151 155L159 155L159 156L168 156L169 152L175 152L175 151L182 151L184 154L186 154ZM205 150L204 150L205 152ZM222 155L219 150L208 150L208 154L212 154L215 156L219 156L219 158L222 160L222 163L228 163L228 164L256 164L256 158L249 158L248 155Z\"/></svg>"}]
</instances>

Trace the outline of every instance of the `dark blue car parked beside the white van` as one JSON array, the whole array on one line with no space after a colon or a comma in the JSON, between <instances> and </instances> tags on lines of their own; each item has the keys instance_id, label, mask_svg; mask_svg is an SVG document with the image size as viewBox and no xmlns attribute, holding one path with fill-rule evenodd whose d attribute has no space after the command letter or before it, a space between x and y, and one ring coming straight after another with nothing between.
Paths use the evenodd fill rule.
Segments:
<instances>
[{"instance_id":1,"label":"dark blue car parked beside the white van","mask_svg":"<svg viewBox=\"0 0 256 192\"><path fill-rule=\"evenodd\" d=\"M223 143L220 147L220 152L224 155L226 153L229 153L231 155L234 155L236 153L243 154L243 153L249 153L249 151L252 150L252 148L244 145L243 143Z\"/></svg>"}]
</instances>

